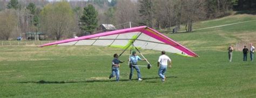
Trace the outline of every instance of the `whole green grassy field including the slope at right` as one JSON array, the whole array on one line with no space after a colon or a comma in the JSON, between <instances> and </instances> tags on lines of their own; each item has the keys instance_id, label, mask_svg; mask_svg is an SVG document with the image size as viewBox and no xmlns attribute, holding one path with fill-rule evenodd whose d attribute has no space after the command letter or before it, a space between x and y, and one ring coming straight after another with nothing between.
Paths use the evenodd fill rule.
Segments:
<instances>
[{"instance_id":1,"label":"whole green grassy field including the slope at right","mask_svg":"<svg viewBox=\"0 0 256 98\"><path fill-rule=\"evenodd\" d=\"M240 18L248 17L255 18ZM168 53L173 67L167 70L166 82L157 75L158 51L142 50L153 65L151 69L140 68L142 82L137 81L136 72L133 80L128 80L127 64L121 65L121 80L116 82L108 76L112 54L122 52L119 48L0 46L0 97L256 97L255 61L242 61L242 53L236 50L233 62L228 62L226 52L229 44L255 42L255 27L253 22L167 34L200 58ZM128 57L125 53L120 59Z\"/></svg>"}]
</instances>

